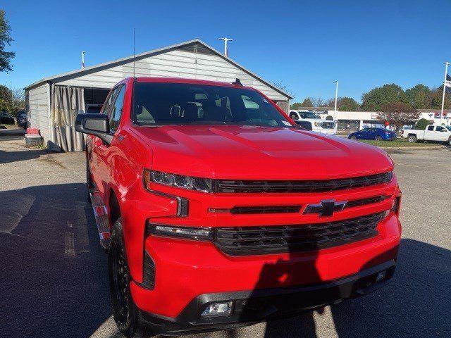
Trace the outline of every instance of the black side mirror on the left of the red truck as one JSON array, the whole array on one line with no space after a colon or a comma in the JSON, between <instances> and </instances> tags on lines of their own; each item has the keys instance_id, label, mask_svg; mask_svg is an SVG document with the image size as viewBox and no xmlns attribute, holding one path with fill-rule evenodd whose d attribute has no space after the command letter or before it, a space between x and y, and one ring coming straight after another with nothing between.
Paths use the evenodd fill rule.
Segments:
<instances>
[{"instance_id":1,"label":"black side mirror on the left of the red truck","mask_svg":"<svg viewBox=\"0 0 451 338\"><path fill-rule=\"evenodd\" d=\"M113 141L108 115L96 113L78 114L75 119L75 130L97 136L106 144L110 144Z\"/></svg>"}]
</instances>

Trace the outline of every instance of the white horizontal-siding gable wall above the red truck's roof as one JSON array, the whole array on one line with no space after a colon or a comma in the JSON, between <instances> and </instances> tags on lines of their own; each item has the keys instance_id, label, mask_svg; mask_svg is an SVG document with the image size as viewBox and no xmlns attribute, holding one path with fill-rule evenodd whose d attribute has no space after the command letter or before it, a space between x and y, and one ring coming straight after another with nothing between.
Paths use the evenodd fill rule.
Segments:
<instances>
[{"instance_id":1,"label":"white horizontal-siding gable wall above the red truck's roof","mask_svg":"<svg viewBox=\"0 0 451 338\"><path fill-rule=\"evenodd\" d=\"M130 76L133 76L132 62L56 83L78 87L111 88L124 77ZM288 101L283 94L218 55L195 54L180 50L168 51L136 61L135 76L185 77L221 82L233 82L239 78L243 85L259 89L272 100Z\"/></svg>"}]
</instances>

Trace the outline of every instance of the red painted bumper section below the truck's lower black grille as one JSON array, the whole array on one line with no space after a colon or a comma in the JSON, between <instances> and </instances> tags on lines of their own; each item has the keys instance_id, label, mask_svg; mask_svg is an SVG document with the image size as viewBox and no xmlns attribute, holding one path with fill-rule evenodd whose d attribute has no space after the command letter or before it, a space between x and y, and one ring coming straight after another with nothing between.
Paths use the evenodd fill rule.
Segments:
<instances>
[{"instance_id":1,"label":"red painted bumper section below the truck's lower black grille","mask_svg":"<svg viewBox=\"0 0 451 338\"><path fill-rule=\"evenodd\" d=\"M317 251L228 256L210 242L149 236L145 250L154 261L154 289L137 282L130 289L142 311L178 318L200 294L321 284L395 261L400 234L390 213L376 237Z\"/></svg>"}]
</instances>

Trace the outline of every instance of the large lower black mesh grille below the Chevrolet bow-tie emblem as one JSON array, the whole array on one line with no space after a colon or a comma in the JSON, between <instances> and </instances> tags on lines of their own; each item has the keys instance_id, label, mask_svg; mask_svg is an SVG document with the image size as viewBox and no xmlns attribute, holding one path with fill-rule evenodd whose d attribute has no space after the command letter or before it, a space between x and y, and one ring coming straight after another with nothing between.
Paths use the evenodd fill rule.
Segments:
<instances>
[{"instance_id":1,"label":"large lower black mesh grille below the Chevrolet bow-tie emblem","mask_svg":"<svg viewBox=\"0 0 451 338\"><path fill-rule=\"evenodd\" d=\"M327 223L266 226L220 227L214 242L230 256L299 252L325 249L376 236L384 213Z\"/></svg>"}]
</instances>

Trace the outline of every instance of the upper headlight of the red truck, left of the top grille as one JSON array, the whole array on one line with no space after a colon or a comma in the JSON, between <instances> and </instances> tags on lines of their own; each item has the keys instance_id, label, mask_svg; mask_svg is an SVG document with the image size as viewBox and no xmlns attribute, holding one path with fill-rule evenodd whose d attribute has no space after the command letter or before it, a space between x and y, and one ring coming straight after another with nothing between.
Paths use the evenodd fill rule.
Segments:
<instances>
[{"instance_id":1,"label":"upper headlight of the red truck, left of the top grille","mask_svg":"<svg viewBox=\"0 0 451 338\"><path fill-rule=\"evenodd\" d=\"M144 169L144 187L150 189L149 184L151 182L195 190L197 192L213 192L213 180L210 178L177 175Z\"/></svg>"}]
</instances>

